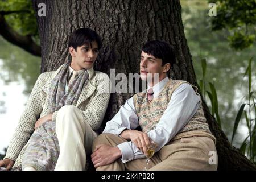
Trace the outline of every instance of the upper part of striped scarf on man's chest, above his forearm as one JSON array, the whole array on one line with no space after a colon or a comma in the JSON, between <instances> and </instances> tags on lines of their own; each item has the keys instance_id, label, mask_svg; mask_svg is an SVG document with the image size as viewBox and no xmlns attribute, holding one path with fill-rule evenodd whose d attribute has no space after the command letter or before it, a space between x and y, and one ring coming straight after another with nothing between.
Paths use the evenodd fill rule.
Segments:
<instances>
[{"instance_id":1,"label":"upper part of striped scarf on man's chest, above his forearm","mask_svg":"<svg viewBox=\"0 0 256 182\"><path fill-rule=\"evenodd\" d=\"M68 91L64 93L66 81L68 78L69 67L71 61L68 61L60 72L53 78L48 91L49 113L59 110L65 105L76 105L81 94L82 86L88 82L89 74L85 69L72 82L69 83Z\"/></svg>"}]
</instances>

